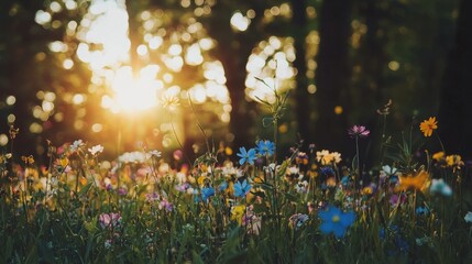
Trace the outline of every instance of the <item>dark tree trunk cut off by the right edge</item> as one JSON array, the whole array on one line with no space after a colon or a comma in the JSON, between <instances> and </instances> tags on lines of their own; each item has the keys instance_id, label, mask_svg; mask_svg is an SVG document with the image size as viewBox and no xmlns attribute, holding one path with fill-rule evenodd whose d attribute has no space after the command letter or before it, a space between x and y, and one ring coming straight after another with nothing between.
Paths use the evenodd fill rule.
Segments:
<instances>
[{"instance_id":1,"label":"dark tree trunk cut off by the right edge","mask_svg":"<svg viewBox=\"0 0 472 264\"><path fill-rule=\"evenodd\" d=\"M446 68L441 89L439 110L439 133L448 154L461 154L472 157L472 1L460 3L455 45L452 48Z\"/></svg>"}]
</instances>

